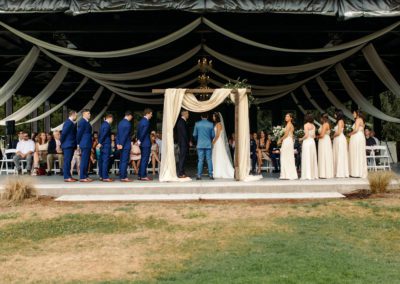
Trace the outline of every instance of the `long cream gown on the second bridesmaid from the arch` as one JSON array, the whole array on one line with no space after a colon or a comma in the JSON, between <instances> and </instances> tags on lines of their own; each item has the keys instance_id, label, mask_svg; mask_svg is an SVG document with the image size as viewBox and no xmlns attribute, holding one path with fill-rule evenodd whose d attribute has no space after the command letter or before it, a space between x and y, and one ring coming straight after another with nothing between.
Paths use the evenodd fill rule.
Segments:
<instances>
[{"instance_id":1,"label":"long cream gown on the second bridesmaid from the arch","mask_svg":"<svg viewBox=\"0 0 400 284\"><path fill-rule=\"evenodd\" d=\"M301 147L301 179L318 179L317 148L315 128L309 130L307 139Z\"/></svg>"}]
</instances>

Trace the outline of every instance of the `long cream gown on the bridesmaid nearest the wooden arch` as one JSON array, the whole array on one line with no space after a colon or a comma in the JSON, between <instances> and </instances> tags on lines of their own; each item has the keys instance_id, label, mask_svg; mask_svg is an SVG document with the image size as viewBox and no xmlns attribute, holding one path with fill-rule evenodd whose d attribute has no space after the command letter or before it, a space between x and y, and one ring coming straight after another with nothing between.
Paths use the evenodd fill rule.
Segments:
<instances>
[{"instance_id":1,"label":"long cream gown on the bridesmaid nearest the wooden arch","mask_svg":"<svg viewBox=\"0 0 400 284\"><path fill-rule=\"evenodd\" d=\"M294 160L294 141L292 132L282 141L280 179L298 179Z\"/></svg>"}]
</instances>

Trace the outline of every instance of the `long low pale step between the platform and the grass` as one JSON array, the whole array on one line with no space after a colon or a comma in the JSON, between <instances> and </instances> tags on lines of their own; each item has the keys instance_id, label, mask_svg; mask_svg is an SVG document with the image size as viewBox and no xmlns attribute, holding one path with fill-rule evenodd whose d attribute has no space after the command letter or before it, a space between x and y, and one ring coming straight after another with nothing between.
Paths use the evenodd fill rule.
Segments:
<instances>
[{"instance_id":1,"label":"long low pale step between the platform and the grass","mask_svg":"<svg viewBox=\"0 0 400 284\"><path fill-rule=\"evenodd\" d=\"M344 198L339 192L214 193L214 194L90 194L62 195L56 201L200 201L200 200L284 200Z\"/></svg>"}]
</instances>

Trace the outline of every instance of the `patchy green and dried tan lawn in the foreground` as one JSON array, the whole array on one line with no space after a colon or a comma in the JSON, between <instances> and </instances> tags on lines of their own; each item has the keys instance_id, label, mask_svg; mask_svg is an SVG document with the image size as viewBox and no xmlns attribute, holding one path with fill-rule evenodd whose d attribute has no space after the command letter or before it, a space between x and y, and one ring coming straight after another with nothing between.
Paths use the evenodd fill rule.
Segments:
<instances>
[{"instance_id":1,"label":"patchy green and dried tan lawn in the foreground","mask_svg":"<svg viewBox=\"0 0 400 284\"><path fill-rule=\"evenodd\" d=\"M0 207L0 278L4 283L400 283L399 197Z\"/></svg>"}]
</instances>

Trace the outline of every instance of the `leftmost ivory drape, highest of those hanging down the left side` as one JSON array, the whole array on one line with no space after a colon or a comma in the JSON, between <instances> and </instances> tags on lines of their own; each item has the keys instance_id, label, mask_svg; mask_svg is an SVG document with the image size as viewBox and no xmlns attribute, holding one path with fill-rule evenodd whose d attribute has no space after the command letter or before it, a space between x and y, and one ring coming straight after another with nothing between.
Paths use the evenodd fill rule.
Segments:
<instances>
[{"instance_id":1,"label":"leftmost ivory drape, highest of those hanging down the left side","mask_svg":"<svg viewBox=\"0 0 400 284\"><path fill-rule=\"evenodd\" d=\"M39 57L39 49L32 47L29 53L22 60L21 64L15 70L14 74L0 89L0 106L2 106L8 99L10 99L14 93L21 87L26 77L31 72Z\"/></svg>"}]
</instances>

